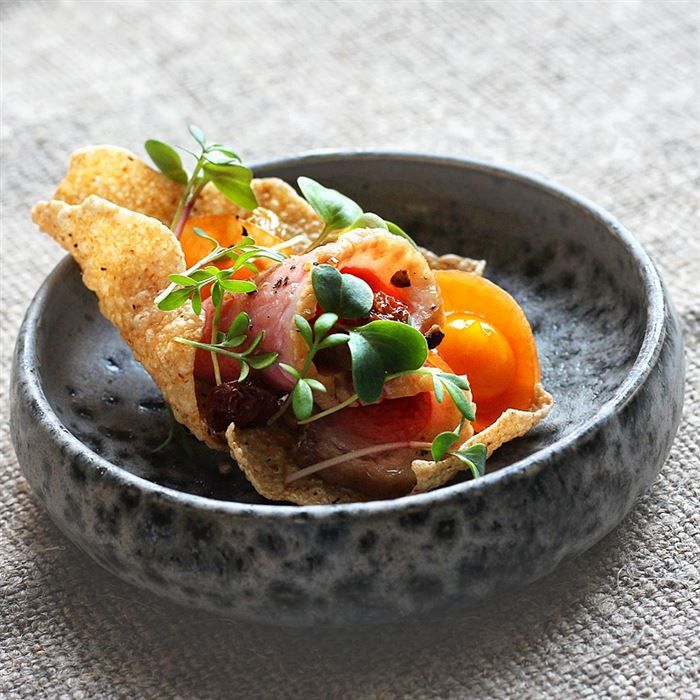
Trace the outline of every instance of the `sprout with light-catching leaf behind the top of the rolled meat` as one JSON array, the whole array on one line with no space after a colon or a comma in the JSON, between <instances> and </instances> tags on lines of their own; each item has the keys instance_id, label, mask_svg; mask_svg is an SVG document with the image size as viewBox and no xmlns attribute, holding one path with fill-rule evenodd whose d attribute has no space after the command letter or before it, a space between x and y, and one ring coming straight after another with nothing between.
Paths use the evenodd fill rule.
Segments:
<instances>
[{"instance_id":1,"label":"sprout with light-catching leaf behind the top of the rolled meat","mask_svg":"<svg viewBox=\"0 0 700 700\"><path fill-rule=\"evenodd\" d=\"M363 212L357 202L337 190L324 187L310 177L298 178L297 184L306 201L324 223L323 230L308 250L327 243L334 232L351 231L356 228L383 228L395 236L405 238L414 248L416 247L414 240L400 226L386 221L378 214Z\"/></svg>"}]
</instances>

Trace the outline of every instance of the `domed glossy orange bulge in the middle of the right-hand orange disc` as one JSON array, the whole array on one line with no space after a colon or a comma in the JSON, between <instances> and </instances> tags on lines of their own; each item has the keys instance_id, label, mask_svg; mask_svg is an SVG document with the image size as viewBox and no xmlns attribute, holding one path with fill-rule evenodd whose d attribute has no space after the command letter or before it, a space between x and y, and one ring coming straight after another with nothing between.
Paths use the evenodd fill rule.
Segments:
<instances>
[{"instance_id":1,"label":"domed glossy orange bulge in the middle of the right-hand orange disc","mask_svg":"<svg viewBox=\"0 0 700 700\"><path fill-rule=\"evenodd\" d=\"M444 332L440 354L457 374L469 377L475 395L490 399L510 386L515 357L496 327L470 314L451 313Z\"/></svg>"}]
</instances>

